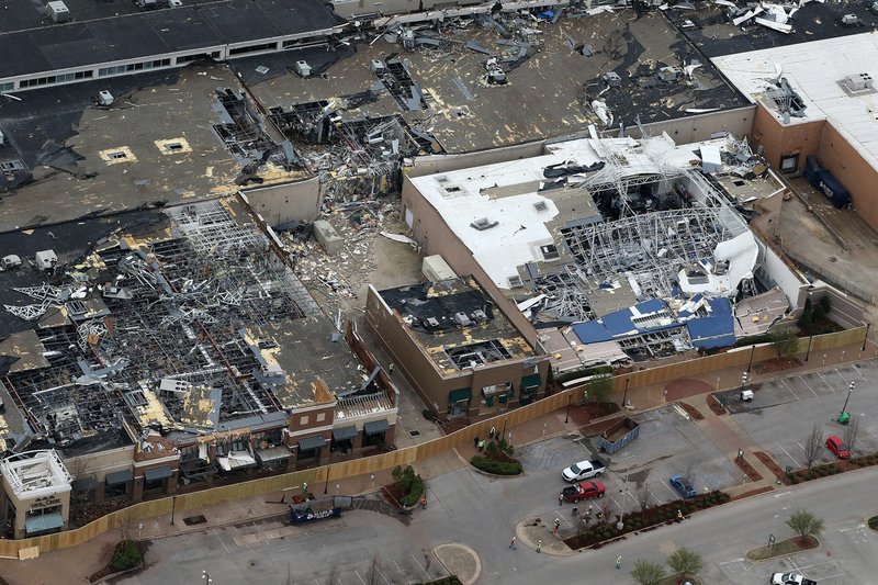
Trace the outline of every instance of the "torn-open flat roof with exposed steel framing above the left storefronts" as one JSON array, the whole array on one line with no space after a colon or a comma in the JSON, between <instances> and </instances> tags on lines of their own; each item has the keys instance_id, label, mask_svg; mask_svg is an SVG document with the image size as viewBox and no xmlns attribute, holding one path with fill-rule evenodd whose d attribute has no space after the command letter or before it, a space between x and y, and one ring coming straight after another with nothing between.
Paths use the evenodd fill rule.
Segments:
<instances>
[{"instance_id":1,"label":"torn-open flat roof with exposed steel framing above the left storefronts","mask_svg":"<svg viewBox=\"0 0 878 585\"><path fill-rule=\"evenodd\" d=\"M16 445L117 447L121 420L185 443L283 426L286 410L335 404L335 393L378 392L237 198L0 241L23 259L0 272L0 374ZM55 267L38 269L46 255L32 250L55 247Z\"/></svg>"}]
</instances>

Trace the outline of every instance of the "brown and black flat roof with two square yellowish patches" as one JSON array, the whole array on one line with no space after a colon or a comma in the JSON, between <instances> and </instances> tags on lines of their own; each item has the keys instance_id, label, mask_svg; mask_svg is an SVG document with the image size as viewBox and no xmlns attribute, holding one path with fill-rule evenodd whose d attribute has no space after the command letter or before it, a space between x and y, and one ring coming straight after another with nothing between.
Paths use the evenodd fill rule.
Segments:
<instances>
[{"instance_id":1,"label":"brown and black flat roof with two square yellowish patches","mask_svg":"<svg viewBox=\"0 0 878 585\"><path fill-rule=\"evenodd\" d=\"M94 104L100 90L116 98L112 106ZM18 161L27 172L15 183L0 176L0 191L9 190L0 225L23 228L235 193L246 188L245 165L268 149L274 155L256 172L262 185L308 177L284 166L280 138L259 128L252 102L230 101L243 91L227 66L202 61L0 99L9 145L0 148L0 162ZM234 127L232 114L244 123Z\"/></svg>"}]
</instances>

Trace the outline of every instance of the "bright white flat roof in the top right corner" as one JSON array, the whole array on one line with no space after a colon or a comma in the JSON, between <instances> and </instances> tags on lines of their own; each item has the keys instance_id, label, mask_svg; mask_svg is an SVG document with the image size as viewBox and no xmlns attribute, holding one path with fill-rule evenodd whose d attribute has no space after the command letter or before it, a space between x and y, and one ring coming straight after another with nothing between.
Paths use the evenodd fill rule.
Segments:
<instances>
[{"instance_id":1,"label":"bright white flat roof in the top right corner","mask_svg":"<svg viewBox=\"0 0 878 585\"><path fill-rule=\"evenodd\" d=\"M713 63L741 92L754 102L759 100L781 123L828 120L878 168L878 92L871 88L852 91L844 83L847 76L878 78L878 38L871 32L725 55L713 58ZM785 120L765 95L777 77L777 66L804 103L801 117Z\"/></svg>"}]
</instances>

